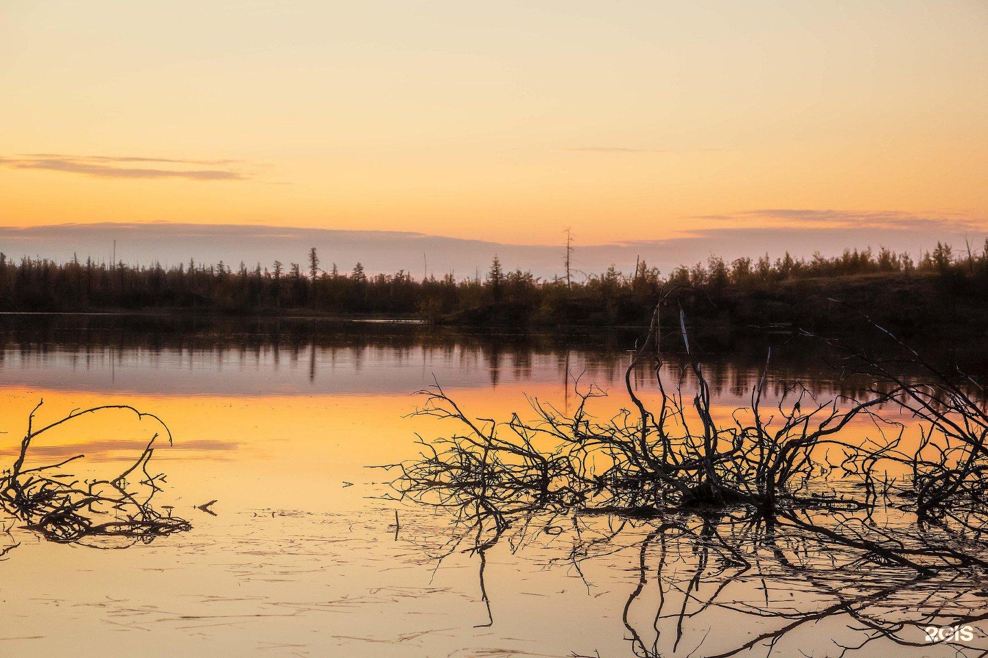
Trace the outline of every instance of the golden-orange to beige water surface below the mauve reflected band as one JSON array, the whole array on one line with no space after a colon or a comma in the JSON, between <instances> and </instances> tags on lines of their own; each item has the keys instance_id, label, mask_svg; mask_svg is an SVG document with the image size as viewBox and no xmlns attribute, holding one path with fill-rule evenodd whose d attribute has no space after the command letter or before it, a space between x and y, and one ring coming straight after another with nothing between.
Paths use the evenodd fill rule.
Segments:
<instances>
[{"instance_id":1,"label":"golden-orange to beige water surface below the mauve reflected band","mask_svg":"<svg viewBox=\"0 0 988 658\"><path fill-rule=\"evenodd\" d=\"M516 410L525 415L526 395L566 408L573 400L563 387L502 379L497 388L453 386L448 393L471 415L507 419ZM630 655L620 613L639 578L633 542L587 562L586 582L572 568L549 568L549 560L565 553L561 542L540 541L517 553L497 547L487 571L496 622L483 627L487 614L474 555L455 552L435 569L436 560L423 549L442 544L448 521L398 506L395 539L395 505L376 498L389 476L367 467L413 457L416 432L428 438L449 430L434 419L407 417L419 402L409 393L244 397L5 388L5 461L15 455L27 415L40 400L41 423L102 404L131 404L158 415L174 436L172 447L160 443L155 453L154 463L168 475L159 502L174 505L194 529L150 546L107 551L45 544L15 531L22 546L0 563L0 652L100 658ZM595 403L602 417L624 403L619 388L612 393ZM728 417L746 395L715 412ZM76 475L114 473L154 431L152 423L124 412L80 418L45 435L33 446L32 459L84 453L85 466L73 464ZM864 440L873 431L862 419L848 436ZM218 500L212 508L217 516L195 509L212 499ZM687 560L679 568L689 566ZM632 611L642 623L651 623L654 614L655 593L649 596ZM796 597L794 602L811 599ZM708 615L686 630L673 655L687 655L711 629L725 645L750 638L758 623ZM826 633L839 631L840 624L817 629L803 641L825 641ZM875 651L858 655L882 655L880 647Z\"/></svg>"}]
</instances>

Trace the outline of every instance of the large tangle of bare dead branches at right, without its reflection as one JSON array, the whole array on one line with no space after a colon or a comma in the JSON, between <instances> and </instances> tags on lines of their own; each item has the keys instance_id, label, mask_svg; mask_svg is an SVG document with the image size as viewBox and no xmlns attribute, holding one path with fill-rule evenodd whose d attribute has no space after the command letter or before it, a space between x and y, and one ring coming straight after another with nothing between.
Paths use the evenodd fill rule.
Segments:
<instances>
[{"instance_id":1,"label":"large tangle of bare dead branches at right, without its reflection","mask_svg":"<svg viewBox=\"0 0 988 658\"><path fill-rule=\"evenodd\" d=\"M433 441L420 437L419 459L385 467L400 472L392 481L397 496L452 510L459 521L493 520L501 530L533 511L704 516L739 507L876 564L925 576L988 569L983 521L971 511L971 501L980 504L988 492L980 478L988 473L988 420L962 387L939 375L934 384L913 384L875 361L863 399L819 400L795 384L770 407L770 351L751 405L718 418L682 310L679 321L686 365L667 369L656 309L625 371L631 408L607 420L589 410L605 393L594 385L581 389L579 380L573 412L531 399L531 421L519 413L505 422L473 418L438 383L420 392L426 402L416 413L452 422L456 430ZM654 402L632 386L642 367L651 371ZM901 448L905 426L883 417L882 407L905 409L925 427L915 456ZM867 437L846 438L856 421L864 421ZM936 441L935 434L946 438ZM910 504L895 497L903 484L886 475L891 464L914 470L913 509L921 521L945 500L965 496L971 504L963 516L947 512L967 531L963 541L928 532L926 523L890 522L888 508Z\"/></svg>"}]
</instances>

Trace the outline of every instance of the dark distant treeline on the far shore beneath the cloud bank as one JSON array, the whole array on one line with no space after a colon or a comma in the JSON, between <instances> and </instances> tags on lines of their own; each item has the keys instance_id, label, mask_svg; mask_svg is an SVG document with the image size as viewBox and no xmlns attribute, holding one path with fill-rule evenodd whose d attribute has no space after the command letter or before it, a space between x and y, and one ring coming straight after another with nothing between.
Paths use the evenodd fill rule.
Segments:
<instances>
[{"instance_id":1,"label":"dark distant treeline on the far shore beneath the cloud bank","mask_svg":"<svg viewBox=\"0 0 988 658\"><path fill-rule=\"evenodd\" d=\"M938 244L914 260L882 249L841 256L741 257L680 266L668 274L639 261L634 271L576 280L505 271L414 278L406 271L341 272L320 267L315 249L303 267L195 261L115 265L73 259L8 259L0 254L3 311L172 311L417 317L474 327L641 325L664 294L694 321L725 328L799 326L849 329L860 311L900 329L988 328L988 242L957 253ZM842 303L830 300L839 300ZM670 320L675 314L670 314Z\"/></svg>"}]
</instances>

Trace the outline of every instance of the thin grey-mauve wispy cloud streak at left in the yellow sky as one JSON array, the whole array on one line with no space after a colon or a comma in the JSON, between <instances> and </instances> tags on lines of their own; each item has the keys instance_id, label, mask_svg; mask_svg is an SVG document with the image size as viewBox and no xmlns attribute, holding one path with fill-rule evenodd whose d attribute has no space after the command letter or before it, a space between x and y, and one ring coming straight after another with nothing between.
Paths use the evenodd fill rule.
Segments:
<instances>
[{"instance_id":1,"label":"thin grey-mauve wispy cloud streak at left in the yellow sky","mask_svg":"<svg viewBox=\"0 0 988 658\"><path fill-rule=\"evenodd\" d=\"M157 167L131 167L135 163ZM187 181L243 181L248 177L230 165L234 160L172 160L137 156L71 156L32 153L0 158L0 167L78 174L99 179L184 179ZM223 167L222 169L202 169Z\"/></svg>"}]
</instances>

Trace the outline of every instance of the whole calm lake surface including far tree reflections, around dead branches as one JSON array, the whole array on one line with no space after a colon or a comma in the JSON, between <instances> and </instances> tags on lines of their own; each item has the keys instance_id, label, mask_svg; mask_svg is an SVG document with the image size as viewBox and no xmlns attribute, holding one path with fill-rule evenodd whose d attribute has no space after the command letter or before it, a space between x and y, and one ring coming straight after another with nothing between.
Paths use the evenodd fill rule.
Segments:
<instances>
[{"instance_id":1,"label":"whole calm lake surface including far tree reflections, around dead branches","mask_svg":"<svg viewBox=\"0 0 988 658\"><path fill-rule=\"evenodd\" d=\"M414 392L434 382L479 417L525 414L529 398L566 409L574 385L591 382L615 394L600 412L617 411L633 331L7 317L0 339L5 464L40 401L39 424L133 405L167 423L174 444L154 453L152 471L167 475L156 500L193 524L97 549L9 522L2 655L764 656L758 638L778 633L773 655L825 656L881 624L921 621L930 600L985 601L977 588L924 583L923 607L915 578L880 568L836 584L768 563L710 568L717 549L701 519L658 532L655 521L536 516L478 550L442 512L387 499L393 475L368 468L413 458L417 434L449 432L409 416ZM748 403L769 343L773 395L796 379L824 396L853 389L819 354L769 337L711 351L717 408ZM645 373L635 382L650 386ZM120 473L155 431L110 410L45 435L31 456L85 454L66 467L80 478ZM214 514L197 508L211 500ZM808 562L831 558L806 551ZM848 655L955 655L918 629L902 635L913 645L877 636Z\"/></svg>"}]
</instances>

